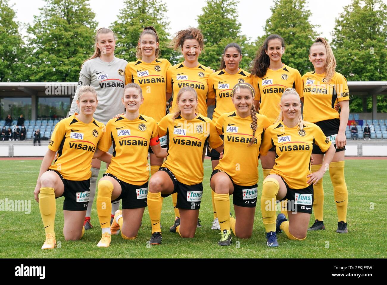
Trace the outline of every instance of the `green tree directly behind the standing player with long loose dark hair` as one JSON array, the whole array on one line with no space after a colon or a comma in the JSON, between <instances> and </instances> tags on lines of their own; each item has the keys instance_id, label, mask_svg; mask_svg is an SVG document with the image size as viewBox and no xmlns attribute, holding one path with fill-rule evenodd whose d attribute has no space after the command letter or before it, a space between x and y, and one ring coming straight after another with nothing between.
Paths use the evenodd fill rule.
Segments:
<instances>
[{"instance_id":1,"label":"green tree directly behind the standing player with long loose dark hair","mask_svg":"<svg viewBox=\"0 0 387 285\"><path fill-rule=\"evenodd\" d=\"M308 54L313 39L317 37L315 29L318 27L309 22L312 13L305 4L306 0L275 0L270 8L272 15L266 20L265 35L256 42L260 47L267 36L282 36L285 41L282 61L298 69L301 76L311 70Z\"/></svg>"}]
</instances>

